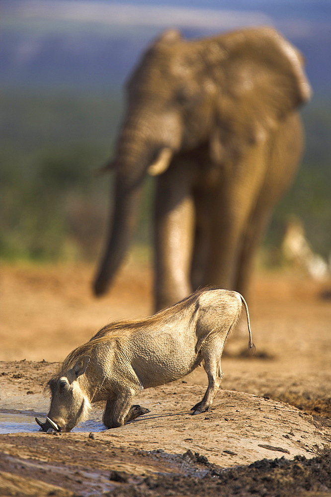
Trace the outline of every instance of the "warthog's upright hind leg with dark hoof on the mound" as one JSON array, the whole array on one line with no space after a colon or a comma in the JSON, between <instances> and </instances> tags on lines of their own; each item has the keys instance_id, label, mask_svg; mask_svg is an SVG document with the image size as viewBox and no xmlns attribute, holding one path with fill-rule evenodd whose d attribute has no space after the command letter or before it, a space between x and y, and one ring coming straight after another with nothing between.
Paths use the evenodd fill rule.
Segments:
<instances>
[{"instance_id":1,"label":"warthog's upright hind leg with dark hoof on the mound","mask_svg":"<svg viewBox=\"0 0 331 497\"><path fill-rule=\"evenodd\" d=\"M221 356L224 347L222 336L214 335L208 339L208 343L204 345L202 355L204 358L204 369L208 376L208 388L202 401L195 404L191 411L194 414L205 413L209 410L213 403L215 394L222 381Z\"/></svg>"}]
</instances>

